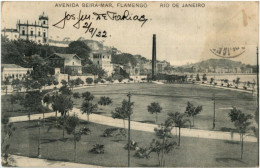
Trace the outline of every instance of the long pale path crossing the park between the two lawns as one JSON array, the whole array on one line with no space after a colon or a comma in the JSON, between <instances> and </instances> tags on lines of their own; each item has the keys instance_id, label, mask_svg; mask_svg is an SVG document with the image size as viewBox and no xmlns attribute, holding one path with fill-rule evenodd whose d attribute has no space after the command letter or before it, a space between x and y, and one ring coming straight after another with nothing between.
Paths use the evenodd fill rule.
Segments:
<instances>
[{"instance_id":1,"label":"long pale path crossing the park between the two lawns","mask_svg":"<svg viewBox=\"0 0 260 168\"><path fill-rule=\"evenodd\" d=\"M80 109L73 108L72 110L78 117L82 120L87 121L87 115L82 114ZM70 113L71 114L71 113ZM55 112L45 113L45 118L55 116ZM43 118L42 114L34 114L31 115L31 120L38 120L39 117ZM122 119L113 119L112 117L91 114L89 117L90 121L97 124L108 125L113 127L123 128L123 120ZM18 117L10 117L9 122L22 122L28 121L28 116L18 116ZM125 122L127 123L127 122ZM126 128L127 128L126 124ZM154 128L158 127L156 124L148 124L141 123L137 121L131 121L131 130L137 131L146 131L146 132L154 132ZM178 135L178 128L173 128L173 135ZM216 140L229 140L229 141L240 141L240 136L238 133L232 132L222 132L222 131L209 131L209 130L199 130L199 129L189 129L182 128L181 136L185 137L195 137L195 138L205 138L205 139L216 139ZM254 136L245 136L245 142L257 142L257 138Z\"/></svg>"}]
</instances>

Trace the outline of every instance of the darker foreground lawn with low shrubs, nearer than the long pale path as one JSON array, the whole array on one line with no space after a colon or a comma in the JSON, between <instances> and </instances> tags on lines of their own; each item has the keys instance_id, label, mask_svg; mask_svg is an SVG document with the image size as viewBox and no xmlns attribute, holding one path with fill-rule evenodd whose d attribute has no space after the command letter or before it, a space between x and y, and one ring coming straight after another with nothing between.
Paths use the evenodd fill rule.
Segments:
<instances>
[{"instance_id":1,"label":"darker foreground lawn with low shrubs, nearer than the long pale path","mask_svg":"<svg viewBox=\"0 0 260 168\"><path fill-rule=\"evenodd\" d=\"M66 141L61 141L62 130L52 129L47 133L48 121L45 128L41 128L41 155L42 158L51 160L71 161L74 160L73 136L65 134ZM10 153L36 157L38 143L38 128L36 121L14 123L17 130L10 139ZM127 150L124 149L127 143L126 138L121 140L115 137L102 137L105 129L110 128L104 125L83 122L79 127L87 126L92 133L82 136L77 143L77 162L101 166L127 166ZM140 147L149 146L155 135L143 131L131 131L133 140L139 143ZM177 141L177 139L176 139ZM92 154L89 150L94 144L105 145L104 154ZM181 146L166 156L166 166L182 167L246 167L257 165L257 143L244 143L244 158L240 157L240 144L199 138L181 138ZM131 166L157 165L157 156L153 153L149 160L133 157L131 151ZM39 165L41 166L41 165Z\"/></svg>"}]
</instances>

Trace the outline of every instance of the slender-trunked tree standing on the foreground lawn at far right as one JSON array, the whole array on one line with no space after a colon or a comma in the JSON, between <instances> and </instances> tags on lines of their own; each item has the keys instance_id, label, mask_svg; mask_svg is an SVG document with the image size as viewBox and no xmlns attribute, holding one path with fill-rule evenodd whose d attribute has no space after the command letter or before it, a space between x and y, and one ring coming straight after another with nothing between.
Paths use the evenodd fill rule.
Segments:
<instances>
[{"instance_id":1,"label":"slender-trunked tree standing on the foreground lawn at far right","mask_svg":"<svg viewBox=\"0 0 260 168\"><path fill-rule=\"evenodd\" d=\"M233 107L233 109L229 113L229 117L231 119L231 122L234 123L236 129L239 131L240 135L240 142L241 142L241 160L243 159L243 148L244 148L244 135L246 131L249 129L248 126L251 124L248 120L252 119L251 114L245 114L241 110L238 110L236 107Z\"/></svg>"}]
</instances>

